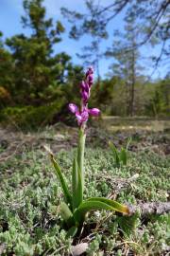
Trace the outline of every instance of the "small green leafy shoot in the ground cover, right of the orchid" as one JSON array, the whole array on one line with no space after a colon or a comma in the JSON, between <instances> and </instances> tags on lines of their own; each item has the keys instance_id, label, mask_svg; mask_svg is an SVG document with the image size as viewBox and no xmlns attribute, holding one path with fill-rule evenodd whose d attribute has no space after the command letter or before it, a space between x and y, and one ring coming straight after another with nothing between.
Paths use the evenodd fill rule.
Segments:
<instances>
[{"instance_id":1,"label":"small green leafy shoot in the ground cover, right of the orchid","mask_svg":"<svg viewBox=\"0 0 170 256\"><path fill-rule=\"evenodd\" d=\"M127 140L127 146L124 148L122 147L119 151L115 145L110 141L110 149L114 158L114 162L117 167L120 167L122 165L127 165L127 158L128 158L128 146L131 141L131 138L129 137Z\"/></svg>"}]
</instances>

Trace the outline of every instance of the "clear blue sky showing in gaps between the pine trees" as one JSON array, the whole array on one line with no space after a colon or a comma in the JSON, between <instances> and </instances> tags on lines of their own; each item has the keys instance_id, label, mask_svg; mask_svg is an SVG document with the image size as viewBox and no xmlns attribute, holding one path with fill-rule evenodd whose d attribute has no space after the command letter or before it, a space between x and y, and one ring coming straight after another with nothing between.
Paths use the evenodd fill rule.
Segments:
<instances>
[{"instance_id":1,"label":"clear blue sky showing in gaps between the pine trees","mask_svg":"<svg viewBox=\"0 0 170 256\"><path fill-rule=\"evenodd\" d=\"M30 34L30 30L23 28L21 24L21 15L25 14L22 3L22 0L0 0L0 31L3 32L4 39L19 33L25 33L26 35ZM82 64L82 60L76 56L76 53L81 53L82 47L88 46L91 42L91 38L89 36L84 36L78 41L70 39L68 34L71 25L68 23L66 18L61 15L60 8L66 7L79 12L86 12L86 8L83 3L83 0L44 0L43 3L43 6L46 8L46 16L52 17L54 20L59 20L66 29L66 32L61 36L63 40L54 47L55 52L58 53L60 51L65 51L72 56L72 61L74 64ZM110 5L110 3L112 3L112 0L100 0L100 5L102 6ZM110 22L110 25L107 28L110 33L110 37L108 40L104 40L102 42L102 51L105 51L105 49L112 45L113 30L123 30L123 16L123 13L121 13ZM146 66L144 69L144 75L149 76L152 73L151 64L148 66L147 62L145 61L146 57L148 57L148 52L149 54L155 54L158 53L160 49L161 46L156 46L155 48L152 48L151 46L143 46L141 48L141 53L144 57L142 64ZM99 69L102 78L104 78L109 72L109 66L111 63L111 59L101 59ZM166 74L166 71L166 68L161 66L158 71L153 74L152 78L162 78Z\"/></svg>"}]
</instances>

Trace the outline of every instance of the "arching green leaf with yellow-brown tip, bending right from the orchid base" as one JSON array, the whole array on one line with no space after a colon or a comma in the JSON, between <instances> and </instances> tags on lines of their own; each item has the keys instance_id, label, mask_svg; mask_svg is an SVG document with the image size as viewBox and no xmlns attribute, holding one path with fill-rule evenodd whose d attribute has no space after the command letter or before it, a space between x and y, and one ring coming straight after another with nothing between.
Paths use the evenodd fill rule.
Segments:
<instances>
[{"instance_id":1,"label":"arching green leaf with yellow-brown tip, bending right from the orchid base","mask_svg":"<svg viewBox=\"0 0 170 256\"><path fill-rule=\"evenodd\" d=\"M110 199L105 198L105 197L91 197L91 198L88 198L87 201L100 201L100 202L103 202L107 205L110 205L110 207L112 207L115 211L119 211L119 212L122 212L122 213L125 213L125 214L129 213L129 210L128 210L127 206L122 205L122 204L120 204L116 201L110 200Z\"/></svg>"}]
</instances>

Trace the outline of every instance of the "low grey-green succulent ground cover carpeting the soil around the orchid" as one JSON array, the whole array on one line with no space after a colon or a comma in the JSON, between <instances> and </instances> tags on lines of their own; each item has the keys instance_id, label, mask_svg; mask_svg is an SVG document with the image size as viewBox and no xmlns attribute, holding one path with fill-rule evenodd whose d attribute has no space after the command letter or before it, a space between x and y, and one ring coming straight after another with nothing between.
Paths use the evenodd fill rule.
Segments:
<instances>
[{"instance_id":1,"label":"low grey-green succulent ground cover carpeting the soil around the orchid","mask_svg":"<svg viewBox=\"0 0 170 256\"><path fill-rule=\"evenodd\" d=\"M55 134L56 132L54 131ZM48 131L45 133L48 134ZM71 180L71 164L75 153L58 153L59 165L64 170L63 174L68 184ZM162 157L147 148L141 153L132 153L126 167L115 168L111 159L112 153L106 149L93 149L93 145L87 149L85 200L91 196L106 196L106 192L100 187L104 180L104 171L111 180L119 180L120 177L127 179L139 174L137 180L120 190L117 195L119 202L136 204L138 200L168 200L166 194L170 189L169 157ZM66 237L63 218L61 219L59 213L63 192L59 180L53 174L51 164L47 162L40 147L31 147L30 151L26 148L23 154L11 155L8 161L0 162L0 170L0 244L5 247L2 256L11 253L16 256L26 255L27 247L29 253L34 256L42 253L69 255L73 239ZM107 179L105 184L108 186L109 195L115 189L115 185L112 186ZM97 255L102 250L105 255L116 254L118 248L124 251L126 247L137 255L146 255L149 249L155 255L161 255L165 248L170 246L169 214L162 214L159 217L151 215L149 218L141 219L140 215L110 216L110 212L104 210L100 211L100 214L97 211L94 214L90 213L86 223L87 227L93 229L85 227L88 229L87 235L90 234L92 239L88 255ZM94 223L97 223L98 228ZM71 233L74 234L73 229ZM123 243L120 245L120 241L125 241L125 247Z\"/></svg>"}]
</instances>

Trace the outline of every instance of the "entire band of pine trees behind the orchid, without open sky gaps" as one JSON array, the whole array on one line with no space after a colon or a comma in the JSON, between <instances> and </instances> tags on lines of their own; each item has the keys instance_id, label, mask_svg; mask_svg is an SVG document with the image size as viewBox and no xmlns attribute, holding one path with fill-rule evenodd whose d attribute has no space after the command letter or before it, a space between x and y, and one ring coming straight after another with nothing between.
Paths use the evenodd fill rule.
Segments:
<instances>
[{"instance_id":1,"label":"entire band of pine trees behind the orchid, without open sky gaps","mask_svg":"<svg viewBox=\"0 0 170 256\"><path fill-rule=\"evenodd\" d=\"M155 68L169 60L170 1L162 0L158 4L152 0L146 4L138 0L116 0L108 7L85 1L85 14L63 8L62 14L73 23L70 36L74 40L84 34L92 37L89 46L77 53L83 60L82 66L73 64L71 56L64 51L54 52L65 28L59 21L46 18L42 2L23 1L25 16L22 24L30 29L30 35L22 33L5 40L0 32L0 119L13 113L22 119L35 109L38 110L35 117L42 115L40 122L44 119L44 109L49 119L62 116L67 102L76 101L76 86L83 76L83 64L93 64L96 69L96 90L93 90L92 101L102 108L103 113L117 116L169 115L170 75L156 82L145 78L139 46L147 42L162 45L160 55L152 58ZM100 44L109 36L107 25L122 9L126 9L124 32L114 31L112 47L102 52ZM101 58L112 60L106 80L100 76Z\"/></svg>"}]
</instances>

